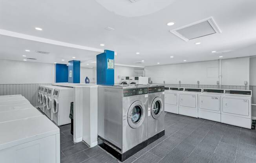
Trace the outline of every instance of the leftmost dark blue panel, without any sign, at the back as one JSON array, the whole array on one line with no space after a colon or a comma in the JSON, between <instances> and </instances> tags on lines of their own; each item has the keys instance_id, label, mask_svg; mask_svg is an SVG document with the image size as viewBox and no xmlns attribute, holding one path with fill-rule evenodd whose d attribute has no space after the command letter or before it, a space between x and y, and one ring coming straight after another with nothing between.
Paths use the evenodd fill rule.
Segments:
<instances>
[{"instance_id":1,"label":"leftmost dark blue panel, without any sign, at the back","mask_svg":"<svg viewBox=\"0 0 256 163\"><path fill-rule=\"evenodd\" d=\"M68 66L66 64L55 64L55 82L68 82Z\"/></svg>"}]
</instances>

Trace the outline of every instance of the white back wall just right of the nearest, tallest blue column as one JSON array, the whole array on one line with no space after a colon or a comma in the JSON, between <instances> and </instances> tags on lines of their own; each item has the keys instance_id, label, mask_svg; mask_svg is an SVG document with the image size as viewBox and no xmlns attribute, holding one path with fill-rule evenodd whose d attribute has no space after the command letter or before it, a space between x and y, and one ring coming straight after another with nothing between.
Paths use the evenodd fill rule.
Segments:
<instances>
[{"instance_id":1,"label":"white back wall just right of the nearest, tallest blue column","mask_svg":"<svg viewBox=\"0 0 256 163\"><path fill-rule=\"evenodd\" d=\"M115 65L115 83L120 83L121 76L136 76L133 71L134 67L116 66ZM120 78L118 78L120 76Z\"/></svg>"}]
</instances>

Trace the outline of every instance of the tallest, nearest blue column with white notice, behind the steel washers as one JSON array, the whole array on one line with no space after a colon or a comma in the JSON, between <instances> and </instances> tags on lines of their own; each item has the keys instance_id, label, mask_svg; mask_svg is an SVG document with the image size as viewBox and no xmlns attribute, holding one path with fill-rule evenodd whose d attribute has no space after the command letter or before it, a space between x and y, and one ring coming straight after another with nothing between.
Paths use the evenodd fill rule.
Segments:
<instances>
[{"instance_id":1,"label":"tallest, nearest blue column with white notice, behind the steel washers","mask_svg":"<svg viewBox=\"0 0 256 163\"><path fill-rule=\"evenodd\" d=\"M114 85L114 56L109 50L97 55L97 84Z\"/></svg>"}]
</instances>

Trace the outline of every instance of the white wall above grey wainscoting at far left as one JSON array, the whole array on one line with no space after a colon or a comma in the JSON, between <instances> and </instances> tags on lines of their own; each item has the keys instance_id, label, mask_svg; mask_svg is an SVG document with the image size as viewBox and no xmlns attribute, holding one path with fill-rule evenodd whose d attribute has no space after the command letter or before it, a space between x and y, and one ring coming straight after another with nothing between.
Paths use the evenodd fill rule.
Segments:
<instances>
[{"instance_id":1,"label":"white wall above grey wainscoting at far left","mask_svg":"<svg viewBox=\"0 0 256 163\"><path fill-rule=\"evenodd\" d=\"M0 60L0 84L54 83L54 64Z\"/></svg>"}]
</instances>

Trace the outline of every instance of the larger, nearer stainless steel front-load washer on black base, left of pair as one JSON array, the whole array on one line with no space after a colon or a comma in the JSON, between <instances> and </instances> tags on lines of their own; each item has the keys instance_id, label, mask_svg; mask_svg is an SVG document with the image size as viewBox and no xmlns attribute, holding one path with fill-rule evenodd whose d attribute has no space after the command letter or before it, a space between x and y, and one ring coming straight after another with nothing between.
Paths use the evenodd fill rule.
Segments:
<instances>
[{"instance_id":1,"label":"larger, nearer stainless steel front-load washer on black base, left of pair","mask_svg":"<svg viewBox=\"0 0 256 163\"><path fill-rule=\"evenodd\" d=\"M148 145L148 86L100 85L98 144L120 161Z\"/></svg>"}]
</instances>

